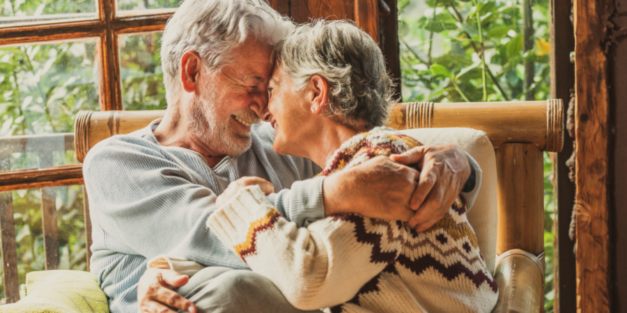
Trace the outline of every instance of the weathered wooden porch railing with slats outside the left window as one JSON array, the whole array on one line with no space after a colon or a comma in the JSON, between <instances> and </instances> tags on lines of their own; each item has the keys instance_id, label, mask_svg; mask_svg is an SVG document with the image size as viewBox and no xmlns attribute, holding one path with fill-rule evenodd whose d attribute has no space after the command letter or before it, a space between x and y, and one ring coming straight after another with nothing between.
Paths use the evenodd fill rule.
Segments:
<instances>
[{"instance_id":1,"label":"weathered wooden porch railing with slats outside the left window","mask_svg":"<svg viewBox=\"0 0 627 313\"><path fill-rule=\"evenodd\" d=\"M13 218L13 195L8 191L41 189L42 232L44 236L45 269L59 268L59 229L56 216L54 186L83 184L82 164L53 166L53 153L74 150L74 134L45 134L0 138L0 239L4 292L7 303L20 300L17 272L17 243ZM38 168L10 171L13 153L36 153ZM84 186L83 186L84 188ZM91 252L91 220L85 192L85 235L87 270Z\"/></svg>"}]
</instances>

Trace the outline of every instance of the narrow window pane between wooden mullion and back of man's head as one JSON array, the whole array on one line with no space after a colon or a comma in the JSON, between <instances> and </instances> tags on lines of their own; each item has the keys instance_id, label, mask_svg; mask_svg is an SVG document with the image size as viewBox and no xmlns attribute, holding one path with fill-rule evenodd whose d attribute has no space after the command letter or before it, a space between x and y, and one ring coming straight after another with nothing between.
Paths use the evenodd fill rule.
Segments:
<instances>
[{"instance_id":1,"label":"narrow window pane between wooden mullion and back of man's head","mask_svg":"<svg viewBox=\"0 0 627 313\"><path fill-rule=\"evenodd\" d=\"M161 110L167 105L159 55L161 35L143 33L118 38L125 110Z\"/></svg>"}]
</instances>

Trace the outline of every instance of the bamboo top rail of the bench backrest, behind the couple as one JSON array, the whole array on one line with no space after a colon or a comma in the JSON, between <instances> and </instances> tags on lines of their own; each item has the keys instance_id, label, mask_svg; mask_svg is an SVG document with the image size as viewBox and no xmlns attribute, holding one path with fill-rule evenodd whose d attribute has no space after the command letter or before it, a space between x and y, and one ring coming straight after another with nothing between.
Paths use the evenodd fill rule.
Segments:
<instances>
[{"instance_id":1,"label":"bamboo top rail of the bench backrest, behind the couple","mask_svg":"<svg viewBox=\"0 0 627 313\"><path fill-rule=\"evenodd\" d=\"M485 131L497 149L504 143L532 143L540 150L562 151L562 100L527 102L395 104L388 127L468 127ZM161 118L165 111L81 111L75 122L76 158L82 162L96 143L116 134L128 134Z\"/></svg>"}]
</instances>

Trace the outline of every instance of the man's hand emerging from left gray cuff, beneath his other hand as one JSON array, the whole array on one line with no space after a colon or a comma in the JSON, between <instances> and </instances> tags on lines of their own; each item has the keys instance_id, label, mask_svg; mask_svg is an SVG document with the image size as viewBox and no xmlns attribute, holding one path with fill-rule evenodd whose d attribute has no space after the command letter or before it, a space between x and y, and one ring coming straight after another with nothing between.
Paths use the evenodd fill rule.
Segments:
<instances>
[{"instance_id":1,"label":"man's hand emerging from left gray cuff, beneath his other hand","mask_svg":"<svg viewBox=\"0 0 627 313\"><path fill-rule=\"evenodd\" d=\"M370 218L407 221L415 212L410 198L420 173L387 157L375 157L325 178L325 216L359 213Z\"/></svg>"}]
</instances>

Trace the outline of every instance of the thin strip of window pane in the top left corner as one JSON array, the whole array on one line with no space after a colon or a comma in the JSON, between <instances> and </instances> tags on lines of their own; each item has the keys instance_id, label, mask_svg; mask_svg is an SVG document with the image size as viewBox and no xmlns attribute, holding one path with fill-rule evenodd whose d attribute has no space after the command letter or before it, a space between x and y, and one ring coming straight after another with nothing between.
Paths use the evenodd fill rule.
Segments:
<instances>
[{"instance_id":1,"label":"thin strip of window pane in the top left corner","mask_svg":"<svg viewBox=\"0 0 627 313\"><path fill-rule=\"evenodd\" d=\"M95 19L94 0L4 0L0 3L0 27Z\"/></svg>"}]
</instances>

